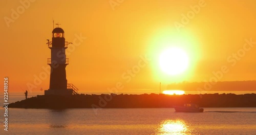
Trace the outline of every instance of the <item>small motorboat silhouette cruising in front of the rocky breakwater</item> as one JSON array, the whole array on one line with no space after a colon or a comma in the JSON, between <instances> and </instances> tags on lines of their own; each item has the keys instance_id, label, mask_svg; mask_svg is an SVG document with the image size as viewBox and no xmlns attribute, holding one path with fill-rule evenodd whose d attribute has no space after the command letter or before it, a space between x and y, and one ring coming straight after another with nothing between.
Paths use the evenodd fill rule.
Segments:
<instances>
[{"instance_id":1,"label":"small motorboat silhouette cruising in front of the rocky breakwater","mask_svg":"<svg viewBox=\"0 0 256 135\"><path fill-rule=\"evenodd\" d=\"M203 108L200 108L198 104L186 103L184 106L174 106L176 112L185 112L185 113L202 113Z\"/></svg>"}]
</instances>

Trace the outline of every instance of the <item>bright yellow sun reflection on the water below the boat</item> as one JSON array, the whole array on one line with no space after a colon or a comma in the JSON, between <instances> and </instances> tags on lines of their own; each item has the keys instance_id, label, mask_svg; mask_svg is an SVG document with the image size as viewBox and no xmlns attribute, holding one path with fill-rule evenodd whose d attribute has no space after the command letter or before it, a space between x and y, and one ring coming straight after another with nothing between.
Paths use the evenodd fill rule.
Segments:
<instances>
[{"instance_id":1,"label":"bright yellow sun reflection on the water below the boat","mask_svg":"<svg viewBox=\"0 0 256 135\"><path fill-rule=\"evenodd\" d=\"M190 134L191 130L183 120L165 120L161 122L158 134Z\"/></svg>"}]
</instances>

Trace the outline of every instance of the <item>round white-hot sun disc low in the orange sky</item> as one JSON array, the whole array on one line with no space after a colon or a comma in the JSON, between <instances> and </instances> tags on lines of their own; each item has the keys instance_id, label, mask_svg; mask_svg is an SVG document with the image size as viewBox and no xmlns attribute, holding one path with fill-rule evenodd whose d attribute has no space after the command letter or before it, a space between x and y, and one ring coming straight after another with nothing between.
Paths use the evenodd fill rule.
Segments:
<instances>
[{"instance_id":1,"label":"round white-hot sun disc low in the orange sky","mask_svg":"<svg viewBox=\"0 0 256 135\"><path fill-rule=\"evenodd\" d=\"M180 48L169 48L164 50L159 57L161 70L168 75L183 73L188 67L188 56Z\"/></svg>"}]
</instances>

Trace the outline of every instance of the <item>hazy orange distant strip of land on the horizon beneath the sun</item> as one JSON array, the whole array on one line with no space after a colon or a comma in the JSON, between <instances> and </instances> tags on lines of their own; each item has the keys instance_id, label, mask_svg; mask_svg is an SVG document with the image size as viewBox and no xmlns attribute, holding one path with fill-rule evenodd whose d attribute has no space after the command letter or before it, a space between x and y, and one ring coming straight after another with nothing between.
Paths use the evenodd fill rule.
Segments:
<instances>
[{"instance_id":1,"label":"hazy orange distant strip of land on the horizon beneath the sun","mask_svg":"<svg viewBox=\"0 0 256 135\"><path fill-rule=\"evenodd\" d=\"M167 89L183 91L256 91L256 81L181 82L167 85Z\"/></svg>"}]
</instances>

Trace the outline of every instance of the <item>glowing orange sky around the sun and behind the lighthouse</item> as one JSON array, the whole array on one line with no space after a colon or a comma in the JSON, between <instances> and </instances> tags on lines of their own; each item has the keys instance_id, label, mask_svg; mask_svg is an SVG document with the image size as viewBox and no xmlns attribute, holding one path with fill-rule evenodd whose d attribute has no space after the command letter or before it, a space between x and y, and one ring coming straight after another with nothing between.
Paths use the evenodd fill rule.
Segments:
<instances>
[{"instance_id":1,"label":"glowing orange sky around the sun and behind the lighthouse","mask_svg":"<svg viewBox=\"0 0 256 135\"><path fill-rule=\"evenodd\" d=\"M40 82L34 79L49 68L46 39L51 39L52 19L61 24L66 41L73 42L80 34L86 37L66 50L68 83L82 93L109 93L107 89L119 82L118 93L157 93L159 82L164 89L172 82L208 81L223 65L229 72L218 81L255 80L253 46L239 60L229 56L243 53L245 39L256 42L256 1L117 2L1 1L0 72L2 78L9 77L9 92L49 88L49 75ZM195 13L191 6L198 5L203 7ZM18 17L13 16L17 10ZM182 23L188 12L195 15L178 30L175 24ZM161 51L172 46L185 50L190 59L188 70L175 76L163 73L158 64ZM138 67L145 55L151 60L128 76L127 70Z\"/></svg>"}]
</instances>

